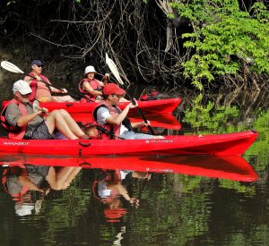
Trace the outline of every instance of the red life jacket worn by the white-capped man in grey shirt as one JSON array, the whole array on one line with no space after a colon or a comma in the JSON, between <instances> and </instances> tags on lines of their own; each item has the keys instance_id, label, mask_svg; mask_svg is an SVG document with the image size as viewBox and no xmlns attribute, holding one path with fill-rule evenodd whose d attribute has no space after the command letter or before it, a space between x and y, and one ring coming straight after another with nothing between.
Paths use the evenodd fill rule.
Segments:
<instances>
[{"instance_id":1,"label":"red life jacket worn by the white-capped man in grey shirt","mask_svg":"<svg viewBox=\"0 0 269 246\"><path fill-rule=\"evenodd\" d=\"M15 104L15 105L19 106L19 109L20 109L22 116L28 114L26 106L23 105L21 102L17 101L15 98L13 98L12 100L9 101L9 103L7 103L6 105L3 106L3 110L2 110L1 115L0 115L1 124L4 127L4 129L6 131L8 131L8 138L9 139L22 140L27 126L25 125L25 126L22 126L20 128L13 127L9 123L7 123L6 119L5 119L6 108L7 108L7 106L9 106L11 104Z\"/></svg>"}]
</instances>

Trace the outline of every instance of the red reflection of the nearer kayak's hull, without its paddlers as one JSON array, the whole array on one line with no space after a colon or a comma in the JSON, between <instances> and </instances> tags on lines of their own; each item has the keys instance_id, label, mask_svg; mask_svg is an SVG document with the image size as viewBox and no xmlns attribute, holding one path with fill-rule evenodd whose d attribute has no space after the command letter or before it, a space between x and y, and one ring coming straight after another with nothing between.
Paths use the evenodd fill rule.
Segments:
<instances>
[{"instance_id":1,"label":"red reflection of the nearer kayak's hull, without its paddlers","mask_svg":"<svg viewBox=\"0 0 269 246\"><path fill-rule=\"evenodd\" d=\"M188 174L234 181L254 182L258 179L243 157L36 157L0 155L0 165L82 166L109 170Z\"/></svg>"}]
</instances>

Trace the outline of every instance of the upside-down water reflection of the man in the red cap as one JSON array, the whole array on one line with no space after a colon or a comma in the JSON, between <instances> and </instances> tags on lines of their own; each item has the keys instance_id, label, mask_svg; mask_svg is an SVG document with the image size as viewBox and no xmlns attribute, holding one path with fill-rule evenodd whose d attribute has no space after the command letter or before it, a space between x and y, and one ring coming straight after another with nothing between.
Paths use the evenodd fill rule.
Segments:
<instances>
[{"instance_id":1,"label":"upside-down water reflection of the man in the red cap","mask_svg":"<svg viewBox=\"0 0 269 246\"><path fill-rule=\"evenodd\" d=\"M126 170L101 169L98 180L92 183L92 191L95 198L105 205L104 215L108 222L119 222L119 218L126 215L121 198L129 201L132 206L138 208L139 199L130 197L126 189L126 183L132 178L148 179L151 174Z\"/></svg>"}]
</instances>

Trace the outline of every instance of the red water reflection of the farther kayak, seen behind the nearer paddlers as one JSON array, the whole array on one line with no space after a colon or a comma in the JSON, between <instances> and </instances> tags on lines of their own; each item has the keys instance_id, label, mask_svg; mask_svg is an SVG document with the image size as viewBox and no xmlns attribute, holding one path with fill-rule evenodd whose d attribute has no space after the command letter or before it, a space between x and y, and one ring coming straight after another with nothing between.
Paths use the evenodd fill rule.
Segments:
<instances>
[{"instance_id":1,"label":"red water reflection of the farther kayak, seen behind the nearer paddlers","mask_svg":"<svg viewBox=\"0 0 269 246\"><path fill-rule=\"evenodd\" d=\"M151 122L152 127L161 127L165 129L179 130L181 124L178 123L178 120L171 114L159 114L148 113L144 114L146 119ZM92 115L84 113L71 113L71 116L77 123L92 123ZM141 115L130 113L128 115L131 123L143 122Z\"/></svg>"}]
</instances>

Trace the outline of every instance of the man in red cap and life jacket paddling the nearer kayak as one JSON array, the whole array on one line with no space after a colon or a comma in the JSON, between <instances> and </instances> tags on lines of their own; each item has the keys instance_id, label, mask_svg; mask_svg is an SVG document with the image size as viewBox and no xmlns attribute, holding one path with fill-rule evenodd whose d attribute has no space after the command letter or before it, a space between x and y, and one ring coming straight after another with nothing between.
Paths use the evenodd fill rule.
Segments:
<instances>
[{"instance_id":1,"label":"man in red cap and life jacket paddling the nearer kayak","mask_svg":"<svg viewBox=\"0 0 269 246\"><path fill-rule=\"evenodd\" d=\"M117 104L119 99L126 94L124 89L121 89L114 83L108 83L103 89L103 98L98 106L93 110L93 119L103 129L107 131L100 131L102 139L111 139L111 136L119 137L126 140L146 140L146 139L163 139L162 136L153 136L150 134L136 133L133 131L134 128L144 127L148 123L130 123L126 117L130 108L137 106L136 100L135 105L131 102L121 111Z\"/></svg>"}]
</instances>

